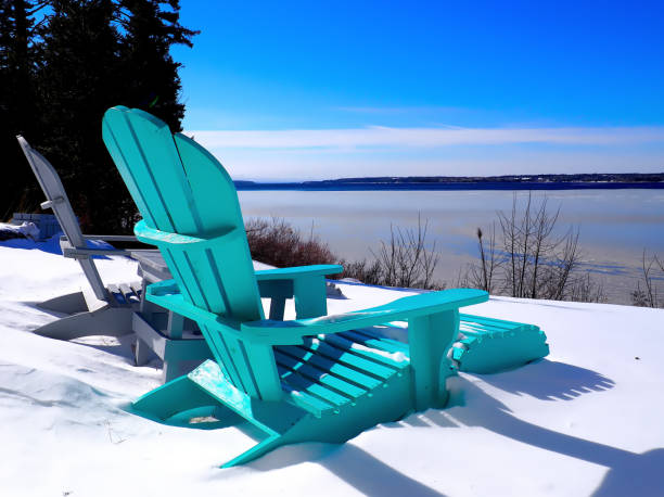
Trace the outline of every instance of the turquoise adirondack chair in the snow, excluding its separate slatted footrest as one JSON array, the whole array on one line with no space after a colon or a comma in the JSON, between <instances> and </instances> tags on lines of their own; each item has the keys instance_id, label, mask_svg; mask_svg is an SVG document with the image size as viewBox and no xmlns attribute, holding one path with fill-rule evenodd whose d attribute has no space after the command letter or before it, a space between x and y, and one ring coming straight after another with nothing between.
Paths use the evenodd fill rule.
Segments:
<instances>
[{"instance_id":1,"label":"turquoise adirondack chair in the snow, excluding its separate slatted footrest","mask_svg":"<svg viewBox=\"0 0 664 497\"><path fill-rule=\"evenodd\" d=\"M159 247L174 275L150 285L146 298L195 320L215 359L143 395L137 412L179 423L202 412L239 415L264 437L224 464L231 467L283 444L343 443L445 405L458 309L485 302L486 292L445 290L325 316L324 280L310 278L321 269L289 268L266 278L294 294L297 319L265 319L237 192L221 164L139 110L108 110L103 139L143 216L136 235ZM408 321L408 344L372 330L391 321Z\"/></svg>"}]
</instances>

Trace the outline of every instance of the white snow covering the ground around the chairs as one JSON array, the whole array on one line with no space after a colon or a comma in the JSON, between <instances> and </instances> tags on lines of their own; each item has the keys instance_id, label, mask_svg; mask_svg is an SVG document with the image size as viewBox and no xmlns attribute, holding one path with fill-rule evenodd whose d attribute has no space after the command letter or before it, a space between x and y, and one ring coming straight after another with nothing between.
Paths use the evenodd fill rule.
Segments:
<instances>
[{"instance_id":1,"label":"white snow covering the ground around the chairs","mask_svg":"<svg viewBox=\"0 0 664 497\"><path fill-rule=\"evenodd\" d=\"M127 258L97 263L106 283L137 280ZM664 495L664 310L494 297L464 311L540 326L549 357L462 373L446 409L346 444L286 446L221 470L253 445L245 432L127 411L159 381L156 361L132 366L130 335L29 333L58 318L36 303L86 285L53 240L0 243L0 495ZM339 286L346 298L330 298L330 313L412 293Z\"/></svg>"}]
</instances>

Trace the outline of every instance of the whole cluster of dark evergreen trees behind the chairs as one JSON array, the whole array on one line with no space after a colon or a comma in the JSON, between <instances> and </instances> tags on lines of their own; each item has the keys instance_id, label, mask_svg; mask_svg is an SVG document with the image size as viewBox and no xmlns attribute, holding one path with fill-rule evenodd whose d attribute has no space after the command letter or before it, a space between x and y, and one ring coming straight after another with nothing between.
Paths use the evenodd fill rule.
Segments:
<instances>
[{"instance_id":1,"label":"whole cluster of dark evergreen trees behind the chairs","mask_svg":"<svg viewBox=\"0 0 664 497\"><path fill-rule=\"evenodd\" d=\"M137 216L102 141L106 109L145 110L181 130L180 64L169 50L197 31L179 0L0 0L0 220L43 195L16 142L58 169L89 232L122 232Z\"/></svg>"}]
</instances>

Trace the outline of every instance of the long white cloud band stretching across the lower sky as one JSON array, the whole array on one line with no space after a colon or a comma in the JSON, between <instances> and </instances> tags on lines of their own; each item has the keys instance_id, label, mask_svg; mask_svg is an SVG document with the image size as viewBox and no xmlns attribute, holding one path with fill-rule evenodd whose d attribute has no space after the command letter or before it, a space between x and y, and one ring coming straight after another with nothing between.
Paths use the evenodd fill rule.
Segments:
<instances>
[{"instance_id":1,"label":"long white cloud band stretching across the lower sky","mask_svg":"<svg viewBox=\"0 0 664 497\"><path fill-rule=\"evenodd\" d=\"M439 148L450 145L664 143L664 127L349 128L188 131L205 146L242 149Z\"/></svg>"}]
</instances>

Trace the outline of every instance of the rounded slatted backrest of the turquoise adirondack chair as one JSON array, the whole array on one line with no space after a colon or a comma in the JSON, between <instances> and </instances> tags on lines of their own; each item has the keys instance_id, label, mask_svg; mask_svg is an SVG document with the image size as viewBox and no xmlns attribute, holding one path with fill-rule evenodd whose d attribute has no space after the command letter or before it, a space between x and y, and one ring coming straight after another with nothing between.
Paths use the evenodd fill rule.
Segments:
<instances>
[{"instance_id":1,"label":"rounded slatted backrest of the turquoise adirondack chair","mask_svg":"<svg viewBox=\"0 0 664 497\"><path fill-rule=\"evenodd\" d=\"M263 319L238 193L221 164L193 140L171 135L165 123L136 109L106 111L103 139L148 228L214 240L202 247L159 245L184 298L226 321ZM200 324L227 378L261 397L251 351ZM267 362L273 361L270 355ZM276 374L273 365L259 366Z\"/></svg>"}]
</instances>

